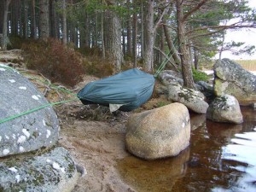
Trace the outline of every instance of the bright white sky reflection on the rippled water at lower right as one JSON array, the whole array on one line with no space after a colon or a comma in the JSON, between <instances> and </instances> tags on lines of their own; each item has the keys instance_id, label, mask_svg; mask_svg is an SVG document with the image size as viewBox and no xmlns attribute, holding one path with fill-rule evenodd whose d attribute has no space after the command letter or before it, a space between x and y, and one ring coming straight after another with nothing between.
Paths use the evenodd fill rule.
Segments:
<instances>
[{"instance_id":1,"label":"bright white sky reflection on the rippled water at lower right","mask_svg":"<svg viewBox=\"0 0 256 192\"><path fill-rule=\"evenodd\" d=\"M237 133L231 142L222 148L222 159L240 162L230 168L241 172L240 177L237 177L234 182L230 182L231 191L256 191L255 128L252 132ZM216 187L212 191L230 191L230 189Z\"/></svg>"}]
</instances>

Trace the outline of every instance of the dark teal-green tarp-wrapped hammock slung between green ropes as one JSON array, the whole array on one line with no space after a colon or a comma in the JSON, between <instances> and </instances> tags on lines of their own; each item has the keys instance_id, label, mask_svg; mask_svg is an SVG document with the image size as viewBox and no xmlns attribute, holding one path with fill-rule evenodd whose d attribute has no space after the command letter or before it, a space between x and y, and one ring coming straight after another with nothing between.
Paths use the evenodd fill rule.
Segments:
<instances>
[{"instance_id":1,"label":"dark teal-green tarp-wrapped hammock slung between green ropes","mask_svg":"<svg viewBox=\"0 0 256 192\"><path fill-rule=\"evenodd\" d=\"M133 68L86 84L78 97L84 105L99 104L110 111L131 111L147 102L154 90L154 76Z\"/></svg>"}]
</instances>

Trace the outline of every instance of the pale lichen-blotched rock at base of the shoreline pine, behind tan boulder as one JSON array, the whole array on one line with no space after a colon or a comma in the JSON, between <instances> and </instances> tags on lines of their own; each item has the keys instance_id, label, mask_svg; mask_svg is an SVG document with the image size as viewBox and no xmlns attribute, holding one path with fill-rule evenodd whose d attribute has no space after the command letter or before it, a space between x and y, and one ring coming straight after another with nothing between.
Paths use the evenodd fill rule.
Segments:
<instances>
[{"instance_id":1,"label":"pale lichen-blotched rock at base of the shoreline pine, behind tan boulder","mask_svg":"<svg viewBox=\"0 0 256 192\"><path fill-rule=\"evenodd\" d=\"M183 103L195 113L207 113L209 105L204 99L205 96L200 91L185 88L177 83L168 85L168 100Z\"/></svg>"}]
</instances>

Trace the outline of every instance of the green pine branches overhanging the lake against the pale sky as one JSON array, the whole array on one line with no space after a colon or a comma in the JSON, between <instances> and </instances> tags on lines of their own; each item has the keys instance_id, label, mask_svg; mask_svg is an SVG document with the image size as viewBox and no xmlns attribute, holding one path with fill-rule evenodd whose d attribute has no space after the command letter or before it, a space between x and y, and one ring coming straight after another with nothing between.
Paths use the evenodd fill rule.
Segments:
<instances>
[{"instance_id":1,"label":"green pine branches overhanging the lake against the pale sky","mask_svg":"<svg viewBox=\"0 0 256 192\"><path fill-rule=\"evenodd\" d=\"M196 4L198 1L194 2ZM190 7L185 6L186 11L189 11L193 7L190 3L189 5ZM216 55L220 46L223 49L241 47L242 43L235 42L225 44L225 46L223 45L221 38L224 37L225 30L229 27L232 28L235 25L236 28L239 28L240 26L255 25L255 10L249 8L247 1L244 0L208 1L203 8L196 10L188 20L188 38L193 44L193 47L199 51L201 55L200 60L209 59ZM236 22L234 21L235 24L233 26L228 26L228 20L236 20ZM234 52L234 54L252 54L253 50L253 46L248 46Z\"/></svg>"}]
</instances>

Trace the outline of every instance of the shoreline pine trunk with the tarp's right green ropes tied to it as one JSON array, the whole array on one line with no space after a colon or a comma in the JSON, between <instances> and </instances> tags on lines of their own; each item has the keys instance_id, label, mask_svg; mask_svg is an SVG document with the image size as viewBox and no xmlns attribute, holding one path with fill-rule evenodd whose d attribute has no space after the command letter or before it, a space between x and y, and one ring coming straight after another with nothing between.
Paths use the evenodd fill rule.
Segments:
<instances>
[{"instance_id":1,"label":"shoreline pine trunk with the tarp's right green ropes tied to it","mask_svg":"<svg viewBox=\"0 0 256 192\"><path fill-rule=\"evenodd\" d=\"M185 22L183 20L183 1L176 0L177 8L177 38L179 44L183 82L184 86L195 89L195 83L192 74L192 67L189 63L189 46L185 36Z\"/></svg>"}]
</instances>

